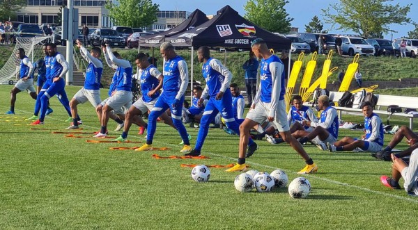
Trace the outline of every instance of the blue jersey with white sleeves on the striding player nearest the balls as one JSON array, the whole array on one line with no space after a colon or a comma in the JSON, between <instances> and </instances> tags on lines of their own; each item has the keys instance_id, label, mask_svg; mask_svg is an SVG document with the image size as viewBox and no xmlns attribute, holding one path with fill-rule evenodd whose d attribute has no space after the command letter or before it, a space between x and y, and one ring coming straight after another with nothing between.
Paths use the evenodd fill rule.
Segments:
<instances>
[{"instance_id":1,"label":"blue jersey with white sleeves on the striding player nearest the balls","mask_svg":"<svg viewBox=\"0 0 418 230\"><path fill-rule=\"evenodd\" d=\"M277 68L277 63L282 65L281 68ZM277 77L277 81L280 83L280 89L277 92L276 98L279 97L279 100L284 99L284 94L286 92L284 85L284 65L281 62L280 58L275 55L270 56L267 59L261 60L261 69L260 69L260 81L261 81L261 101L265 103L270 103L272 101L272 88L273 88L273 79L272 74L275 74L274 77ZM278 72L272 72L278 71ZM281 72L280 72L281 71Z\"/></svg>"}]
</instances>

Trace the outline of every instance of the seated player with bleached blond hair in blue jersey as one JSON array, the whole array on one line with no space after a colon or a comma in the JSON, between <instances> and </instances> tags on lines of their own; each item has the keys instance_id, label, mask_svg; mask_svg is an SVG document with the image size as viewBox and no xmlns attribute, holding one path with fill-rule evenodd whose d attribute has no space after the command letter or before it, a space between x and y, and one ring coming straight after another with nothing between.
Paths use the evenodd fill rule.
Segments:
<instances>
[{"instance_id":1,"label":"seated player with bleached blond hair in blue jersey","mask_svg":"<svg viewBox=\"0 0 418 230\"><path fill-rule=\"evenodd\" d=\"M318 97L318 108L323 110L320 113L319 122L307 122L303 124L314 127L311 132L297 131L293 136L301 138L299 142L304 144L309 140L321 150L327 150L327 143L334 144L338 138L339 120L336 109L330 106L330 98L327 95Z\"/></svg>"}]
</instances>

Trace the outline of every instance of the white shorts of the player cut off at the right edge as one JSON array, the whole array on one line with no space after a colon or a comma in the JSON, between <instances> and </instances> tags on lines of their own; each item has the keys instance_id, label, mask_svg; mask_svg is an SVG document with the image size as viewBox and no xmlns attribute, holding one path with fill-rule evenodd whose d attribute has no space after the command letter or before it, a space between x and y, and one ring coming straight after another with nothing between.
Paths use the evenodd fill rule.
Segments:
<instances>
[{"instance_id":1,"label":"white shorts of the player cut off at the right edge","mask_svg":"<svg viewBox=\"0 0 418 230\"><path fill-rule=\"evenodd\" d=\"M410 164L405 167L402 172L403 188L407 192L415 192L418 195L418 149L412 151L410 156Z\"/></svg>"}]
</instances>

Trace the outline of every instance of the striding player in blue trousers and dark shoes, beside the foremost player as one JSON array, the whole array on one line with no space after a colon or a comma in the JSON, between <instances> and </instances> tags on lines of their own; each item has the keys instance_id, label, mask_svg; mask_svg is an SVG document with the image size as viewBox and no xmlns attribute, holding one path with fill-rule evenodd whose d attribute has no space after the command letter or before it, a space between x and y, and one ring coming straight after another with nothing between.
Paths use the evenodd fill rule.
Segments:
<instances>
[{"instance_id":1,"label":"striding player in blue trousers and dark shoes, beside the foremost player","mask_svg":"<svg viewBox=\"0 0 418 230\"><path fill-rule=\"evenodd\" d=\"M218 112L226 122L226 126L239 135L239 124L235 121L233 109L232 109L232 95L229 90L229 84L231 83L232 74L222 65L222 63L210 57L210 50L208 47L199 47L197 50L197 59L202 65L202 75L206 80L205 90L199 99L199 105L206 97L209 98L209 102L203 112L201 119L201 125L199 133L197 134L196 146L192 151L185 156L199 156L201 154L201 148L203 142L205 142L206 136L209 131L210 121L215 118ZM257 150L257 144L253 140L249 140L248 152L250 156Z\"/></svg>"}]
</instances>

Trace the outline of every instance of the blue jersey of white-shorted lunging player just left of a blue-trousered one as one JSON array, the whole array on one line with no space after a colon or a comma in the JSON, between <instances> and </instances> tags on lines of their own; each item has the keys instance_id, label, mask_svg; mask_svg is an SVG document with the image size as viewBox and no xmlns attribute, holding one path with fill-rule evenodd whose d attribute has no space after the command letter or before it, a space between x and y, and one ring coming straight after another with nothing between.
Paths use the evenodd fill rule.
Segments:
<instances>
[{"instance_id":1,"label":"blue jersey of white-shorted lunging player just left of a blue-trousered one","mask_svg":"<svg viewBox=\"0 0 418 230\"><path fill-rule=\"evenodd\" d=\"M155 92L151 97L148 97L148 92L154 90L157 85L160 83L158 76L161 75L161 72L154 65L149 65L146 69L142 69L141 76L139 76L139 81L141 81L141 92L142 100L145 102L153 101L153 99L160 96L160 91Z\"/></svg>"}]
</instances>

